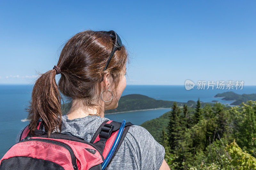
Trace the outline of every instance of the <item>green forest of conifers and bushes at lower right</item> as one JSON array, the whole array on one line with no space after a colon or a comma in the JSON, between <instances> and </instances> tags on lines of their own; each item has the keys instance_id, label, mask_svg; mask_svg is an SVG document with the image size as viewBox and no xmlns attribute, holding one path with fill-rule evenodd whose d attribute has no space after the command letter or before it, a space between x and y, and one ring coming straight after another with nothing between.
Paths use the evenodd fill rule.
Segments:
<instances>
[{"instance_id":1,"label":"green forest of conifers and bushes at lower right","mask_svg":"<svg viewBox=\"0 0 256 170\"><path fill-rule=\"evenodd\" d=\"M141 124L165 148L171 169L256 169L256 101L229 107L172 104L172 110Z\"/></svg>"}]
</instances>

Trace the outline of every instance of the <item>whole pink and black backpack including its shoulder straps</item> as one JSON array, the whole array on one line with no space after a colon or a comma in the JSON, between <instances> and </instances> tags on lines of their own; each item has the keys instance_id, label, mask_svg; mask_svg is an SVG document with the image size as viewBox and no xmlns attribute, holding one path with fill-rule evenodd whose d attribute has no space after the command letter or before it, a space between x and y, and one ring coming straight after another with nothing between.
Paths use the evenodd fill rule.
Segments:
<instances>
[{"instance_id":1,"label":"whole pink and black backpack including its shoulder straps","mask_svg":"<svg viewBox=\"0 0 256 170\"><path fill-rule=\"evenodd\" d=\"M126 122L123 134L116 150L122 144L131 122ZM0 170L101 170L101 164L106 159L121 123L104 121L97 129L90 142L70 135L52 133L47 138L43 131L42 121L38 121L36 136L29 134L28 126L20 136L20 142L14 144L0 160Z\"/></svg>"}]
</instances>

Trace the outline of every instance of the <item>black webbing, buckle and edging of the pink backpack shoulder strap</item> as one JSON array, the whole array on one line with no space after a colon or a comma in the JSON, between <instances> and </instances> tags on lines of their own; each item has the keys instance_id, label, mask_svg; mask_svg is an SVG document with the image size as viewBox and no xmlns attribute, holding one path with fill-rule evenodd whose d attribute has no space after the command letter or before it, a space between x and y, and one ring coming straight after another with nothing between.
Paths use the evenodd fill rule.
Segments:
<instances>
[{"instance_id":1,"label":"black webbing, buckle and edging of the pink backpack shoulder strap","mask_svg":"<svg viewBox=\"0 0 256 170\"><path fill-rule=\"evenodd\" d=\"M90 143L94 144L95 146L97 146L102 152L101 154L103 153L103 151L106 149L105 146L106 146L106 143L108 143L108 138L109 136L113 133L113 132L116 132L117 130L120 129L120 126L121 126L121 122L116 122L116 121L112 121L110 123L107 123L108 120L104 121L103 123L101 123L100 127L97 129L97 131L95 132L95 134L93 135L92 137L92 140L90 141ZM114 127L112 127L112 126ZM111 160L114 158L116 152L118 151L119 147L121 146L123 140L124 140L124 137L126 136L129 128L131 125L134 125L132 124L131 122L126 122L125 123L125 126L124 126L124 131L123 131L123 134L120 138L120 141L119 143L117 144L116 146L116 150L115 152L113 153L110 161L108 162L108 165L109 163L111 162ZM118 132L117 132L118 133ZM110 135L109 135L110 134ZM111 135L112 136L112 135ZM100 140L98 140L97 142L95 142L96 138L100 138ZM110 147L111 148L111 147ZM110 149L109 149L110 150ZM109 151L108 151L109 152ZM108 153L107 152L107 153ZM106 157L105 157L106 158ZM105 159L104 158L104 159ZM108 165L106 167L108 167Z\"/></svg>"}]
</instances>

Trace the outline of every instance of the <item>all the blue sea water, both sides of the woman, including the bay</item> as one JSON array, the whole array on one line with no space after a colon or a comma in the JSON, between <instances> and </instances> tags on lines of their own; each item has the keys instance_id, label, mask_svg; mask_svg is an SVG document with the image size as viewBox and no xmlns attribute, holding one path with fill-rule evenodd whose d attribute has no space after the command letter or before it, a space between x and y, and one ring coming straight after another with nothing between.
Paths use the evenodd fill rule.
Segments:
<instances>
[{"instance_id":1,"label":"all the blue sea water, both sides of the woman, including the bay","mask_svg":"<svg viewBox=\"0 0 256 170\"><path fill-rule=\"evenodd\" d=\"M0 85L0 157L15 143L15 138L23 127L28 125L28 122L21 122L21 119L27 117L24 110L28 106L28 101L31 98L31 85ZM122 96L127 94L142 94L152 97L156 100L172 100L179 102L187 102L188 100L197 100L211 102L218 100L222 104L230 104L232 101L221 100L214 98L217 93L227 92L231 90L185 90L182 85L127 85ZM244 86L243 90L232 90L238 94L251 94L256 92L256 86ZM135 111L127 113L118 113L106 115L113 121L121 122L123 119L126 122L140 125L141 123L154 119L170 111L170 109L156 109L146 111Z\"/></svg>"}]
</instances>

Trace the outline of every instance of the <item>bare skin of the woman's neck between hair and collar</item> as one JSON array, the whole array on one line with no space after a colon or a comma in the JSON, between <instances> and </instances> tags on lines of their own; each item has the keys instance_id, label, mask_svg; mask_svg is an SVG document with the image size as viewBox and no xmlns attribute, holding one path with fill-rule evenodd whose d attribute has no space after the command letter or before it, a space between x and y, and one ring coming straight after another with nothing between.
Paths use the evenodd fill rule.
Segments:
<instances>
[{"instance_id":1,"label":"bare skin of the woman's neck between hair and collar","mask_svg":"<svg viewBox=\"0 0 256 170\"><path fill-rule=\"evenodd\" d=\"M86 107L86 106L84 106L82 100L75 99L75 100L73 100L71 108L66 115L68 116L68 119L71 120L71 119L86 117L89 114L96 115L97 109ZM103 117L104 113L101 113L100 116Z\"/></svg>"}]
</instances>

